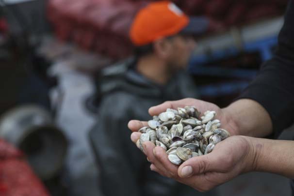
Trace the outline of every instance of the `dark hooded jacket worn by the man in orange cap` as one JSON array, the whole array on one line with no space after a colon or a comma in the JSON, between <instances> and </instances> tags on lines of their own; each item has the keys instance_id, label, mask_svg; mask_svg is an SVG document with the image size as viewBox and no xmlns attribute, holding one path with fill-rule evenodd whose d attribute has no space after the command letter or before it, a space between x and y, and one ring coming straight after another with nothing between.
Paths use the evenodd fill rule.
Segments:
<instances>
[{"instance_id":1,"label":"dark hooded jacket worn by the man in orange cap","mask_svg":"<svg viewBox=\"0 0 294 196\"><path fill-rule=\"evenodd\" d=\"M150 170L146 156L131 142L128 122L151 119L148 108L167 100L197 97L190 76L175 75L160 86L138 74L134 61L102 73L102 101L90 137L100 167L105 196L196 196L196 190ZM198 193L200 194L200 193Z\"/></svg>"}]
</instances>

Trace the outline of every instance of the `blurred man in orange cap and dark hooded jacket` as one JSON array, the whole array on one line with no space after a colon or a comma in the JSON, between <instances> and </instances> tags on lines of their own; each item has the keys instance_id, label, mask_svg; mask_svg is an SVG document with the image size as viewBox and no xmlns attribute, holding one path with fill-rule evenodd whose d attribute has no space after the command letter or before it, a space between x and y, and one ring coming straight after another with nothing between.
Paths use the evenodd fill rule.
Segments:
<instances>
[{"instance_id":1,"label":"blurred man in orange cap and dark hooded jacket","mask_svg":"<svg viewBox=\"0 0 294 196\"><path fill-rule=\"evenodd\" d=\"M207 19L188 18L169 1L150 3L136 15L130 31L135 58L103 71L98 122L91 132L106 196L197 195L149 170L145 156L130 141L127 124L133 118L150 119L150 106L197 97L183 71L196 46L192 35L207 28Z\"/></svg>"}]
</instances>

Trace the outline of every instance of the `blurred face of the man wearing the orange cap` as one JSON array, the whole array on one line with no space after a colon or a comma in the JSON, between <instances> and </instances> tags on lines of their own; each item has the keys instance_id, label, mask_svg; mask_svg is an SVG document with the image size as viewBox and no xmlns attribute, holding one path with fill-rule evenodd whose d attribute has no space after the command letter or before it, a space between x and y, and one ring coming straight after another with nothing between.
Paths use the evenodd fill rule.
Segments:
<instances>
[{"instance_id":1,"label":"blurred face of the man wearing the orange cap","mask_svg":"<svg viewBox=\"0 0 294 196\"><path fill-rule=\"evenodd\" d=\"M196 47L195 40L192 36L176 35L169 38L169 42L171 51L167 58L168 64L176 70L185 69Z\"/></svg>"}]
</instances>

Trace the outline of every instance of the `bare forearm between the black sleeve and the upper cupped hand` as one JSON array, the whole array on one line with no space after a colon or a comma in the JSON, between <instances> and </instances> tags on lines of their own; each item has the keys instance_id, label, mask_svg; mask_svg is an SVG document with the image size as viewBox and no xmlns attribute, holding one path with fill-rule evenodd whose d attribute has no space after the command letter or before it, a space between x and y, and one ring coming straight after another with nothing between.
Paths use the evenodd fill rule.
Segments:
<instances>
[{"instance_id":1,"label":"bare forearm between the black sleeve and the upper cupped hand","mask_svg":"<svg viewBox=\"0 0 294 196\"><path fill-rule=\"evenodd\" d=\"M264 137L272 133L271 118L256 101L241 99L222 110L234 121L237 135Z\"/></svg>"}]
</instances>

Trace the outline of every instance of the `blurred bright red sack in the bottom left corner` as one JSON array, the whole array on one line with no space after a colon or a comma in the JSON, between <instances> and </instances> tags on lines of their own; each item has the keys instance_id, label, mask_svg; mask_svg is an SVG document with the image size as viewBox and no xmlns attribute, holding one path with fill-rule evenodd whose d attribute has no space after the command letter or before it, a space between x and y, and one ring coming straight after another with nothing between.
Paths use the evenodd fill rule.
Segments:
<instances>
[{"instance_id":1,"label":"blurred bright red sack in the bottom left corner","mask_svg":"<svg viewBox=\"0 0 294 196\"><path fill-rule=\"evenodd\" d=\"M24 155L1 139L0 196L49 196Z\"/></svg>"}]
</instances>

